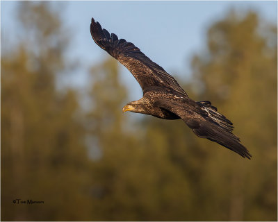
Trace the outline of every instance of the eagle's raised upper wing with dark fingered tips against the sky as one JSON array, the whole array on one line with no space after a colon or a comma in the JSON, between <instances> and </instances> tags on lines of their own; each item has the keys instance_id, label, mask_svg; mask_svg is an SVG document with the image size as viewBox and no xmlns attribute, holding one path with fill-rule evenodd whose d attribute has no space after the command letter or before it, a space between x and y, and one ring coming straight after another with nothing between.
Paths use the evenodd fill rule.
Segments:
<instances>
[{"instance_id":1,"label":"eagle's raised upper wing with dark fingered tips against the sky","mask_svg":"<svg viewBox=\"0 0 278 222\"><path fill-rule=\"evenodd\" d=\"M155 90L155 87L163 87L163 90L170 89L187 96L186 92L177 83L177 80L145 56L134 44L126 42L124 39L119 40L114 33L110 35L93 18L90 24L90 31L93 40L101 49L107 51L131 71L131 74L142 87L143 93Z\"/></svg>"}]
</instances>

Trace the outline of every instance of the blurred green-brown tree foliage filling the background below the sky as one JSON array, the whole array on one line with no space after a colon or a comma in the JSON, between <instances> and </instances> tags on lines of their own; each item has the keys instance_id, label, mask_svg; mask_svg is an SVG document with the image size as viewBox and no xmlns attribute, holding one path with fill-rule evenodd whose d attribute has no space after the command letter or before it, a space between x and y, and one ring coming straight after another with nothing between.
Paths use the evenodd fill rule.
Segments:
<instances>
[{"instance_id":1,"label":"blurred green-brown tree foliage filling the background below the sky","mask_svg":"<svg viewBox=\"0 0 278 222\"><path fill-rule=\"evenodd\" d=\"M83 110L78 92L56 89L69 66L60 18L45 2L24 2L19 12L28 38L1 55L2 220L277 220L276 28L264 24L261 33L255 13L231 12L209 28L192 89L184 84L234 122L249 161L183 121L131 121L113 58L90 70L92 104ZM44 44L33 49L31 39Z\"/></svg>"}]
</instances>

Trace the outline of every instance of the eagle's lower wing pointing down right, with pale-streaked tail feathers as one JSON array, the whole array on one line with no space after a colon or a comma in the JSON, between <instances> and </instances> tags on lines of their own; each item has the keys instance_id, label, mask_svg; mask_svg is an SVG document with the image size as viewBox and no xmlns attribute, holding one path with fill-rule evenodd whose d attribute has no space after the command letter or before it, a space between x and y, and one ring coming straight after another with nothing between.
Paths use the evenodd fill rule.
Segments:
<instances>
[{"instance_id":1,"label":"eagle's lower wing pointing down right, with pale-streaked tail feathers","mask_svg":"<svg viewBox=\"0 0 278 222\"><path fill-rule=\"evenodd\" d=\"M216 108L208 104L210 102L198 103L200 103L199 110L195 107L190 108L189 105L185 106L184 103L169 101L167 99L160 99L154 105L177 114L198 137L217 142L242 157L250 159L252 155L247 148L240 144L240 139L236 135L231 133L233 130L231 125L233 123L219 112L216 112ZM202 105L204 105L206 112L203 112Z\"/></svg>"}]
</instances>

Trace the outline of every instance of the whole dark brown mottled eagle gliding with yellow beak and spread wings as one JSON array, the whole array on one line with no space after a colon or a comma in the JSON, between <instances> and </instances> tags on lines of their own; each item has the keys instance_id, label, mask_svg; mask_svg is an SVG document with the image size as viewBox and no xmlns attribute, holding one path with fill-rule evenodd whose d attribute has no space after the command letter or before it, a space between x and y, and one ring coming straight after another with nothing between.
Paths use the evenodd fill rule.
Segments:
<instances>
[{"instance_id":1,"label":"whole dark brown mottled eagle gliding with yellow beak and spread wings","mask_svg":"<svg viewBox=\"0 0 278 222\"><path fill-rule=\"evenodd\" d=\"M127 103L123 112L137 112L161 119L182 119L201 138L216 142L242 157L250 159L249 151L232 133L233 123L220 114L210 101L193 101L177 80L145 56L138 47L114 33L101 28L92 18L90 33L95 43L124 65L136 78L143 96Z\"/></svg>"}]
</instances>

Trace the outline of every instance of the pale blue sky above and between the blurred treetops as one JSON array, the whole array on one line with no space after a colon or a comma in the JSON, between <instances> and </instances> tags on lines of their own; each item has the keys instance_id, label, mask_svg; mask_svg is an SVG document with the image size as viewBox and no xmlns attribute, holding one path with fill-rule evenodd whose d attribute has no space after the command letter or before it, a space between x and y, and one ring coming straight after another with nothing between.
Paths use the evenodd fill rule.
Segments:
<instances>
[{"instance_id":1,"label":"pale blue sky above and between the blurred treetops","mask_svg":"<svg viewBox=\"0 0 278 222\"><path fill-rule=\"evenodd\" d=\"M277 1L60 1L63 20L72 44L69 57L79 59L81 68L65 84L83 87L90 66L108 54L90 36L90 19L103 28L133 42L146 56L179 78L190 76L190 58L204 49L206 31L231 8L239 12L254 10L262 19L277 22ZM17 1L1 1L1 37L16 39ZM132 99L142 94L140 86L121 68L122 79L131 84ZM131 89L131 88L130 88ZM134 98L135 96L135 98Z\"/></svg>"}]
</instances>

